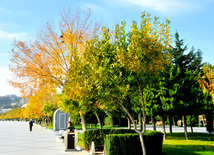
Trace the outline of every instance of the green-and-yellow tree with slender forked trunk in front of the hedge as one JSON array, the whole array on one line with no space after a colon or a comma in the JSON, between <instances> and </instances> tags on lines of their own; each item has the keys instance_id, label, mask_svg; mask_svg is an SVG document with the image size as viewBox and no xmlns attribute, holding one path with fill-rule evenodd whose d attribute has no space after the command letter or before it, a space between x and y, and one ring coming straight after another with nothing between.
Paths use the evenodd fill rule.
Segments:
<instances>
[{"instance_id":1,"label":"green-and-yellow tree with slender forked trunk in front of the hedge","mask_svg":"<svg viewBox=\"0 0 214 155\"><path fill-rule=\"evenodd\" d=\"M143 130L138 131L136 125L135 129L140 135L142 152L145 155L143 134L146 115L143 90L152 83L152 79L163 69L163 62L167 62L170 57L167 50L170 43L169 21L161 24L158 18L154 17L152 20L148 13L142 13L140 28L133 22L130 32L126 33L125 25L124 21L121 26L116 25L114 36L108 29L103 29L101 39L90 42L88 50L94 51L94 63L91 64L99 79L98 89L103 90L100 91L104 92L103 96L116 101L134 125L134 119L126 108L127 102L124 99L137 90L141 103L137 105L140 105L143 114Z\"/></svg>"}]
</instances>

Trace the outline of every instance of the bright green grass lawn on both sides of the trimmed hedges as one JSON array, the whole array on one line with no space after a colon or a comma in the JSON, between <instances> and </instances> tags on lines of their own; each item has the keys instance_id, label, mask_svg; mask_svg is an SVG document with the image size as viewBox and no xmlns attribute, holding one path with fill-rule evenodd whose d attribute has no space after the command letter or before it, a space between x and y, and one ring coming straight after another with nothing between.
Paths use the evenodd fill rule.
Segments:
<instances>
[{"instance_id":1,"label":"bright green grass lawn on both sides of the trimmed hedges","mask_svg":"<svg viewBox=\"0 0 214 155\"><path fill-rule=\"evenodd\" d=\"M84 148L83 134L78 134L78 145ZM163 141L162 155L214 155L214 135L203 133L167 133Z\"/></svg>"}]
</instances>

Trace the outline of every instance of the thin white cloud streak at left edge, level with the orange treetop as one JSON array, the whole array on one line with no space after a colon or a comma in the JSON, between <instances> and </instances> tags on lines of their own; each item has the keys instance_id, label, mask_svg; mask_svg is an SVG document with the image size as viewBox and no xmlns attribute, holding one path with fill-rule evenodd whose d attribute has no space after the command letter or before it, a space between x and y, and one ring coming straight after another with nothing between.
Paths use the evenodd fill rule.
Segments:
<instances>
[{"instance_id":1,"label":"thin white cloud streak at left edge, level with the orange treetop","mask_svg":"<svg viewBox=\"0 0 214 155\"><path fill-rule=\"evenodd\" d=\"M22 39L27 36L27 33L10 33L0 29L0 39Z\"/></svg>"}]
</instances>

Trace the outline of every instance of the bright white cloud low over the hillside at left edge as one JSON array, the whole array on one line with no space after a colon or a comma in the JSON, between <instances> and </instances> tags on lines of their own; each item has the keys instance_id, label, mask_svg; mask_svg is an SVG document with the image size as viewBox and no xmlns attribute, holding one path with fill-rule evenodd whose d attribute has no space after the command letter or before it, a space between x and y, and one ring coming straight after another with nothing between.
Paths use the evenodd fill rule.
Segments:
<instances>
[{"instance_id":1,"label":"bright white cloud low over the hillside at left edge","mask_svg":"<svg viewBox=\"0 0 214 155\"><path fill-rule=\"evenodd\" d=\"M17 88L13 88L8 80L12 79L8 66L0 66L0 96L15 94L20 96Z\"/></svg>"}]
</instances>

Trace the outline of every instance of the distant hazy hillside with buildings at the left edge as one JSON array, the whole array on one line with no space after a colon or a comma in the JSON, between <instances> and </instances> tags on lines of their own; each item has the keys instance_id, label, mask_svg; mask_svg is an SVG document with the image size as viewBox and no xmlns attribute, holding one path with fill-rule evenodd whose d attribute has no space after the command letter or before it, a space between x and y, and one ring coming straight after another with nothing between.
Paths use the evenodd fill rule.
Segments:
<instances>
[{"instance_id":1,"label":"distant hazy hillside with buildings at the left edge","mask_svg":"<svg viewBox=\"0 0 214 155\"><path fill-rule=\"evenodd\" d=\"M0 109L20 106L21 97L16 95L0 96Z\"/></svg>"}]
</instances>

